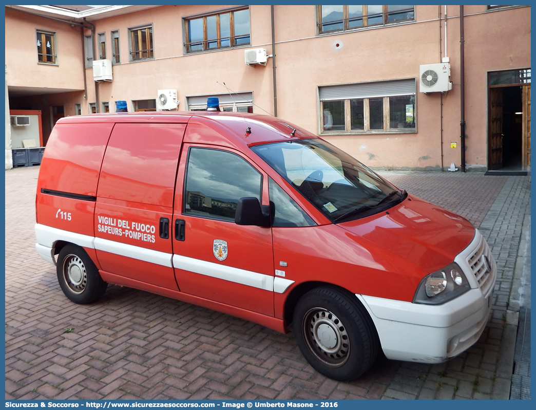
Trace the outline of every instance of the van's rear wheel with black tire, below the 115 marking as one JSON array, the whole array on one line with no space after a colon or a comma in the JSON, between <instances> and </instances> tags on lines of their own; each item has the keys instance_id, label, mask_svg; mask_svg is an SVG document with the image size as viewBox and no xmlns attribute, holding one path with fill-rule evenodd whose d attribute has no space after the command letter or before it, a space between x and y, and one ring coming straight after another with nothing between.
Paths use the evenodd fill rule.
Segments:
<instances>
[{"instance_id":1,"label":"van's rear wheel with black tire, below the 115 marking","mask_svg":"<svg viewBox=\"0 0 536 410\"><path fill-rule=\"evenodd\" d=\"M56 273L59 287L75 303L95 302L108 287L87 252L77 245L65 245L59 251Z\"/></svg>"}]
</instances>

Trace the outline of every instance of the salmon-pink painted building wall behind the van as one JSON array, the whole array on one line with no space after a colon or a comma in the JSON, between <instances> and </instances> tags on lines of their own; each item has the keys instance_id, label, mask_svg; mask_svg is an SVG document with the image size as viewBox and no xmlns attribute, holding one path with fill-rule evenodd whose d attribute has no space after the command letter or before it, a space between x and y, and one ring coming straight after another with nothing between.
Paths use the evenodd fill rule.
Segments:
<instances>
[{"instance_id":1,"label":"salmon-pink painted building wall behind the van","mask_svg":"<svg viewBox=\"0 0 536 410\"><path fill-rule=\"evenodd\" d=\"M109 101L110 111L114 111L115 101L126 100L130 111L132 100L154 99L157 90L177 89L179 109L185 109L187 96L225 93L222 85L225 83L236 92L253 92L254 112L273 113L273 59L269 58L266 67L244 64L244 49L264 47L268 54L273 54L269 5L250 6L250 46L183 53L182 18L227 7L230 6L160 6L92 20L95 33L106 33L108 56L111 56L110 31L120 31L122 63L113 66L112 82L99 85L100 101ZM530 7L486 11L484 5L465 6L466 163L469 167L484 168L487 164L487 72L530 68L530 11ZM277 5L274 14L278 116L317 135L321 134L319 86L404 78L416 78L418 83L419 65L439 63L445 56L444 6L415 6L414 23L329 35L316 35L315 6ZM297 16L299 24L296 24ZM448 6L447 16L446 41L453 87L443 95L423 94L417 85L416 133L322 136L372 167L438 169L448 167L451 162L459 166L459 6ZM23 53L13 46L16 38L11 32L19 20L14 13L6 14L6 47L10 45L6 55L20 56L24 64L37 65L33 48L28 46ZM39 25L44 24L41 20L26 20L21 24L25 24L25 32L31 33L28 35L35 36L36 26L46 28ZM130 63L128 28L148 23L153 24L155 58ZM58 33L58 27L62 27L61 61L73 59L72 72L65 78L54 76L51 81L79 84L83 70L79 61L78 29L70 33L68 26L48 24L56 27ZM68 34L72 35L69 57L63 55L63 37ZM90 31L86 30L85 34ZM339 47L334 46L336 43ZM63 64L59 70L55 69L60 72ZM18 74L18 82L42 84L42 77L32 72ZM76 103L82 104L83 113L87 113L88 103L95 101L91 69L86 70L86 76L87 99L80 93L63 97L67 115L71 115ZM457 148L450 148L451 142L457 142Z\"/></svg>"}]
</instances>

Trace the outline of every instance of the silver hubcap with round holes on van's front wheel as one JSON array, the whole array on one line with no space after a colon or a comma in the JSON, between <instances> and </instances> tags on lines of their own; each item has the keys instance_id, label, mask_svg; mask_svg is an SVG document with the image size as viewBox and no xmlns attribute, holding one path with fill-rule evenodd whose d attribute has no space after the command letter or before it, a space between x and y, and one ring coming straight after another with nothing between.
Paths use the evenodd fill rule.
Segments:
<instances>
[{"instance_id":1,"label":"silver hubcap with round holes on van's front wheel","mask_svg":"<svg viewBox=\"0 0 536 410\"><path fill-rule=\"evenodd\" d=\"M329 310L309 310L303 320L303 334L311 352L323 362L337 367L348 359L350 342L346 327Z\"/></svg>"}]
</instances>

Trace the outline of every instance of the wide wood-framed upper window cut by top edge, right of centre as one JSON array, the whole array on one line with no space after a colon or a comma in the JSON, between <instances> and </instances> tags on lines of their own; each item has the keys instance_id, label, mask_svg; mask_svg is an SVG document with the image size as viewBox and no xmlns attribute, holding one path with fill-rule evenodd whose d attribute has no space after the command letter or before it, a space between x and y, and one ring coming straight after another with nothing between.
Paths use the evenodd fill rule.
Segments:
<instances>
[{"instance_id":1,"label":"wide wood-framed upper window cut by top edge, right of centre","mask_svg":"<svg viewBox=\"0 0 536 410\"><path fill-rule=\"evenodd\" d=\"M412 5L325 5L317 8L318 33L356 30L415 19L415 9Z\"/></svg>"}]
</instances>

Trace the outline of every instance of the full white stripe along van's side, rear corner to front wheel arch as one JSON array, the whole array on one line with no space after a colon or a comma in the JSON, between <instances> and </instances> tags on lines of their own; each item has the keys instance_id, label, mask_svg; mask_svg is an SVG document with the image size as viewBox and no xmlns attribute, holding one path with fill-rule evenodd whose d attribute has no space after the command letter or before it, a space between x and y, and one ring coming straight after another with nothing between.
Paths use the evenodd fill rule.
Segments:
<instances>
[{"instance_id":1,"label":"full white stripe along van's side, rear corner to front wheel arch","mask_svg":"<svg viewBox=\"0 0 536 410\"><path fill-rule=\"evenodd\" d=\"M190 272L200 275L217 277L218 279L229 282L240 283L258 289L275 291L284 293L294 281L284 279L282 277L274 277L264 275L262 273L251 272L250 270L233 268L230 266L220 265L219 263L207 262L204 260L184 257L182 255L170 254L166 252L153 251L151 249L140 246L123 244L113 240L95 238L80 233L64 231L51 226L35 224L35 236L37 237L38 252L41 257L47 252L43 252L45 248L51 248L56 241L65 240L75 245L92 248L99 251L109 252L116 255L121 255L127 258L143 260L145 262L155 263L157 265L166 266L169 268L189 270ZM42 249L41 249L42 248ZM48 258L43 259L54 263L54 260Z\"/></svg>"}]
</instances>

